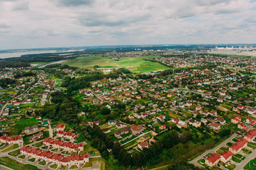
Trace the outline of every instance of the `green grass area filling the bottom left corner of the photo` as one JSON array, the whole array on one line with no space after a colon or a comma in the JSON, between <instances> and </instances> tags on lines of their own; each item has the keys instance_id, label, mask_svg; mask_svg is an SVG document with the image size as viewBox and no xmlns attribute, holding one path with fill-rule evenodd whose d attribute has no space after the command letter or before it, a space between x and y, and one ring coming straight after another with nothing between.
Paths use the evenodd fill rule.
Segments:
<instances>
[{"instance_id":1,"label":"green grass area filling the bottom left corner of the photo","mask_svg":"<svg viewBox=\"0 0 256 170\"><path fill-rule=\"evenodd\" d=\"M19 162L16 162L16 160L8 157L0 157L0 164L14 170L40 170L36 166L30 164L21 164Z\"/></svg>"}]
</instances>

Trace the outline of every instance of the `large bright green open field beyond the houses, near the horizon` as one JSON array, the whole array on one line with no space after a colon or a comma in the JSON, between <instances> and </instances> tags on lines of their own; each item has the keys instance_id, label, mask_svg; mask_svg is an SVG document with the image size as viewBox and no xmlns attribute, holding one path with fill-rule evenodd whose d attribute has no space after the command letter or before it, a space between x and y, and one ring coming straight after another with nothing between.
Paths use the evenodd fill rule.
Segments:
<instances>
[{"instance_id":1,"label":"large bright green open field beyond the houses, near the horizon","mask_svg":"<svg viewBox=\"0 0 256 170\"><path fill-rule=\"evenodd\" d=\"M67 62L62 62L62 64L67 64L71 67L80 68L93 68L98 65L101 68L110 67L129 67L133 72L151 72L157 70L169 69L158 62L145 61L145 58L153 58L160 56L149 56L149 57L121 57L119 61L112 60L114 57L101 57L101 56L87 56L87 57L77 57L74 60L68 60Z\"/></svg>"}]
</instances>

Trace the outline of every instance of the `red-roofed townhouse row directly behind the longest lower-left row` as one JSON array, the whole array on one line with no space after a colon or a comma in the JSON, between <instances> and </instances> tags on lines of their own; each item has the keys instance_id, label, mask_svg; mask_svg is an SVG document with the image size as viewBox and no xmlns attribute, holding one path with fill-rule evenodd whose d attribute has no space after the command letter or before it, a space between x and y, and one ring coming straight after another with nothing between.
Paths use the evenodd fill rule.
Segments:
<instances>
[{"instance_id":1,"label":"red-roofed townhouse row directly behind the longest lower-left row","mask_svg":"<svg viewBox=\"0 0 256 170\"><path fill-rule=\"evenodd\" d=\"M54 140L52 138L45 138L43 145L52 146L53 148L63 149L68 152L84 150L83 143L74 144L73 142L64 142L62 140Z\"/></svg>"}]
</instances>

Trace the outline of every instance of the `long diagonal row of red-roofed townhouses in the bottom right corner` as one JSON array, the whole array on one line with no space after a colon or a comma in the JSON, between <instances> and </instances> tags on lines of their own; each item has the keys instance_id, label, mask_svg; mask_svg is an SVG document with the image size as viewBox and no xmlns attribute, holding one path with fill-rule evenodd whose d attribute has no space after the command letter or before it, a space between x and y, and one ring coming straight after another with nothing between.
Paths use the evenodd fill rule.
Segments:
<instances>
[{"instance_id":1,"label":"long diagonal row of red-roofed townhouses in the bottom right corner","mask_svg":"<svg viewBox=\"0 0 256 170\"><path fill-rule=\"evenodd\" d=\"M206 159L206 164L208 166L216 166L219 161L226 163L232 159L233 154L238 154L243 148L247 147L248 142L252 142L256 137L256 129L248 132L244 138L235 142L235 144L231 145L228 150L219 154L212 154Z\"/></svg>"}]
</instances>

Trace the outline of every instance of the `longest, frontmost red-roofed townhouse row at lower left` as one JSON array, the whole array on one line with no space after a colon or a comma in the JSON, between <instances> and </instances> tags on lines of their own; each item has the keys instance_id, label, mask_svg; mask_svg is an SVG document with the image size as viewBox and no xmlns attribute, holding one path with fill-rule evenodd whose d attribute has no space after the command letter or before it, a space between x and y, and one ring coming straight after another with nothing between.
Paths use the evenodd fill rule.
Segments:
<instances>
[{"instance_id":1,"label":"longest, frontmost red-roofed townhouse row at lower left","mask_svg":"<svg viewBox=\"0 0 256 170\"><path fill-rule=\"evenodd\" d=\"M50 151L42 149L35 149L33 147L25 146L20 149L21 154L33 157L35 159L42 159L45 162L51 162L62 166L84 164L89 162L89 154L75 155L65 157L62 154L55 154Z\"/></svg>"}]
</instances>

